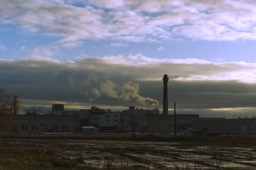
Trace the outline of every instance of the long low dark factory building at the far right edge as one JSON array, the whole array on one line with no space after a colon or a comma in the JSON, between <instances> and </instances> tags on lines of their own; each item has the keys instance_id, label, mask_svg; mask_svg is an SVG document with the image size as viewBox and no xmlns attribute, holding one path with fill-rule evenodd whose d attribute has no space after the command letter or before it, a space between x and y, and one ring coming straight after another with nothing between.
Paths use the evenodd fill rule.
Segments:
<instances>
[{"instance_id":1,"label":"long low dark factory building at the far right edge","mask_svg":"<svg viewBox=\"0 0 256 170\"><path fill-rule=\"evenodd\" d=\"M253 133L256 130L256 118L247 119L199 119L194 122L195 130L212 133Z\"/></svg>"}]
</instances>

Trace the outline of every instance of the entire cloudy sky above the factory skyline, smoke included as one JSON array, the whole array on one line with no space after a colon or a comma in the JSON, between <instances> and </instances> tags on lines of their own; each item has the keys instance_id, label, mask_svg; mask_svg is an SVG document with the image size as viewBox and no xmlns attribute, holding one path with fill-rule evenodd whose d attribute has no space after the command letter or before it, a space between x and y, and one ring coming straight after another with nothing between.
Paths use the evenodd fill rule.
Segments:
<instances>
[{"instance_id":1,"label":"entire cloudy sky above the factory skyline, smoke included","mask_svg":"<svg viewBox=\"0 0 256 170\"><path fill-rule=\"evenodd\" d=\"M0 86L32 105L256 115L255 0L1 0Z\"/></svg>"}]
</instances>

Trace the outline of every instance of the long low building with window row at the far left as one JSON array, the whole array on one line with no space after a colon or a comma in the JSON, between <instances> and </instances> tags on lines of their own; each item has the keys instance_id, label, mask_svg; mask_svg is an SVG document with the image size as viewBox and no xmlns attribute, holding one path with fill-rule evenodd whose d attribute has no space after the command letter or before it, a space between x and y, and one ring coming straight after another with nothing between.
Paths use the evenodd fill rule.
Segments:
<instances>
[{"instance_id":1,"label":"long low building with window row at the far left","mask_svg":"<svg viewBox=\"0 0 256 170\"><path fill-rule=\"evenodd\" d=\"M65 130L73 132L81 126L80 116L56 115L4 115L0 121L1 130L17 132L47 132Z\"/></svg>"}]
</instances>

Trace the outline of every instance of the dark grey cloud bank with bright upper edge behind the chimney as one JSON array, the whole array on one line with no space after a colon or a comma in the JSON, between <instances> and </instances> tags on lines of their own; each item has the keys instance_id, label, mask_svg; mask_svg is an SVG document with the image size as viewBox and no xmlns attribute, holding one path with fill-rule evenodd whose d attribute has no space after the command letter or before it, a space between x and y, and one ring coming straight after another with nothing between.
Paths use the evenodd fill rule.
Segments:
<instances>
[{"instance_id":1,"label":"dark grey cloud bank with bright upper edge behind the chimney","mask_svg":"<svg viewBox=\"0 0 256 170\"><path fill-rule=\"evenodd\" d=\"M162 101L162 77L168 74L169 108L176 102L179 113L251 115L256 108L256 63L154 59L137 54L73 62L43 56L1 59L0 67L1 87L22 99L21 107L32 105L23 100L40 99L41 105L50 100L67 103L69 108L74 103L117 110L129 105L152 108Z\"/></svg>"}]
</instances>

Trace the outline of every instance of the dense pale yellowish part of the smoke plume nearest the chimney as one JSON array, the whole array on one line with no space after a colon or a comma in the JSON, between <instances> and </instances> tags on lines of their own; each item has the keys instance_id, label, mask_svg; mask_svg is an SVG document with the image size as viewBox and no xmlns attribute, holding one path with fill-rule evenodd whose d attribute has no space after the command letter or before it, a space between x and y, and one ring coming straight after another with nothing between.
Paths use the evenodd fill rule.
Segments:
<instances>
[{"instance_id":1,"label":"dense pale yellowish part of the smoke plume nearest the chimney","mask_svg":"<svg viewBox=\"0 0 256 170\"><path fill-rule=\"evenodd\" d=\"M119 86L116 85L114 82L112 82L111 80L107 80L101 85L100 91L102 92L102 94L105 94L115 99L122 99L124 101L134 99L138 103L143 105L158 105L157 100L141 96L139 94L139 84L131 81L125 83L124 86L119 88Z\"/></svg>"}]
</instances>

